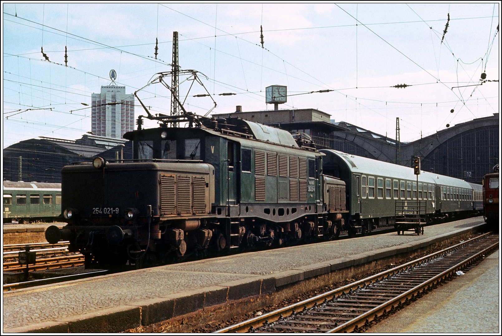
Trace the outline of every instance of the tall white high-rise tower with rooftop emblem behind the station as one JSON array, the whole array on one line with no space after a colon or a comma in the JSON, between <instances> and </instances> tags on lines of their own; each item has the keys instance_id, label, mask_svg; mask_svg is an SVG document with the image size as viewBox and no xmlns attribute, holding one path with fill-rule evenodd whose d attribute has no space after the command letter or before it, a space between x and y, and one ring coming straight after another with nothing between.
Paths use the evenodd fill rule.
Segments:
<instances>
[{"instance_id":1,"label":"tall white high-rise tower with rooftop emblem behind the station","mask_svg":"<svg viewBox=\"0 0 502 336\"><path fill-rule=\"evenodd\" d=\"M91 104L95 135L121 138L134 129L134 95L126 94L125 86L101 86L101 93L91 94Z\"/></svg>"}]
</instances>

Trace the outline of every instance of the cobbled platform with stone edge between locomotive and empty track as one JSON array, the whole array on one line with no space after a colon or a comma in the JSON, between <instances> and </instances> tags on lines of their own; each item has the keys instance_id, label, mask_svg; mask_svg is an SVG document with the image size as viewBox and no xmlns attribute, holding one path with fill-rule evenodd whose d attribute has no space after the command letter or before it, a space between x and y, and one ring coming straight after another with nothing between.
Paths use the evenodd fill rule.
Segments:
<instances>
[{"instance_id":1,"label":"cobbled platform with stone edge between locomotive and empty track","mask_svg":"<svg viewBox=\"0 0 502 336\"><path fill-rule=\"evenodd\" d=\"M247 252L4 292L4 332L117 332L280 291L309 278L459 240L482 217L426 228Z\"/></svg>"}]
</instances>

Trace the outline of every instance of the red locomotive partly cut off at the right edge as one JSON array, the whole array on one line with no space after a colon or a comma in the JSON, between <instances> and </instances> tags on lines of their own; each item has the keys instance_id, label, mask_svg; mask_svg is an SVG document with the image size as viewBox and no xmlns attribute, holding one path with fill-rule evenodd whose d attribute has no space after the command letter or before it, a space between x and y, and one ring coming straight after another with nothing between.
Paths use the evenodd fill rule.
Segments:
<instances>
[{"instance_id":1,"label":"red locomotive partly cut off at the right edge","mask_svg":"<svg viewBox=\"0 0 502 336\"><path fill-rule=\"evenodd\" d=\"M486 223L498 231L500 222L498 216L498 164L491 174L483 177L483 208Z\"/></svg>"}]
</instances>

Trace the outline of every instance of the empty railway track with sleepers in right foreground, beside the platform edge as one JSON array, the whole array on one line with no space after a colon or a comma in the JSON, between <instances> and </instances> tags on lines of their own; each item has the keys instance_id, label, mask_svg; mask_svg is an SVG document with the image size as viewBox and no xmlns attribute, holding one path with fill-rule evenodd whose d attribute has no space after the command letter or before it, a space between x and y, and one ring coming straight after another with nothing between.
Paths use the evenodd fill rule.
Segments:
<instances>
[{"instance_id":1,"label":"empty railway track with sleepers in right foreground, beside the platform edge","mask_svg":"<svg viewBox=\"0 0 502 336\"><path fill-rule=\"evenodd\" d=\"M351 332L378 322L498 248L486 233L216 332Z\"/></svg>"}]
</instances>

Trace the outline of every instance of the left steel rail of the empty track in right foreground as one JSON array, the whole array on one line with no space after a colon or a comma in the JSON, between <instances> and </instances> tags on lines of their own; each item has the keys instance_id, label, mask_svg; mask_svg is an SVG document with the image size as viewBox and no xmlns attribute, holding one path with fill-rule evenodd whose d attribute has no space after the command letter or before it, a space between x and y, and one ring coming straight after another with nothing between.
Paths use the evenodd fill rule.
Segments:
<instances>
[{"instance_id":1,"label":"left steel rail of the empty track in right foreground","mask_svg":"<svg viewBox=\"0 0 502 336\"><path fill-rule=\"evenodd\" d=\"M374 281L382 280L385 277L392 276L392 275L398 273L399 271L408 269L408 268L415 266L417 264L420 264L426 260L433 259L433 258L435 258L441 254L444 254L448 251L458 249L464 245L468 245L474 241L483 239L483 238L487 237L488 235L490 235L491 233L492 232L488 232L488 233L479 235L477 237L471 238L471 239L466 240L464 242L460 242L456 245L442 249L441 251L431 253L429 255L426 255L426 256L421 257L419 259L416 259L416 260L407 262L405 264L396 266L396 267L391 268L389 270L386 270L386 271L380 272L378 274L369 276L367 278L352 282L352 283L347 284L345 286L327 291L325 293L322 293L322 294L316 295L314 297L311 297L309 299L291 304L289 306L276 309L274 311L257 316L255 318L230 325L228 327L222 328L222 329L214 331L214 332L248 332L250 328L261 327L264 325L264 323L270 323L270 322L277 321L279 318L289 316L293 312L297 313L297 312L302 311L303 309L313 307L314 304L321 304L325 301L329 301L333 297L340 296L341 294L344 294L344 293L349 293L352 290L356 290L364 285L371 284Z\"/></svg>"}]
</instances>

